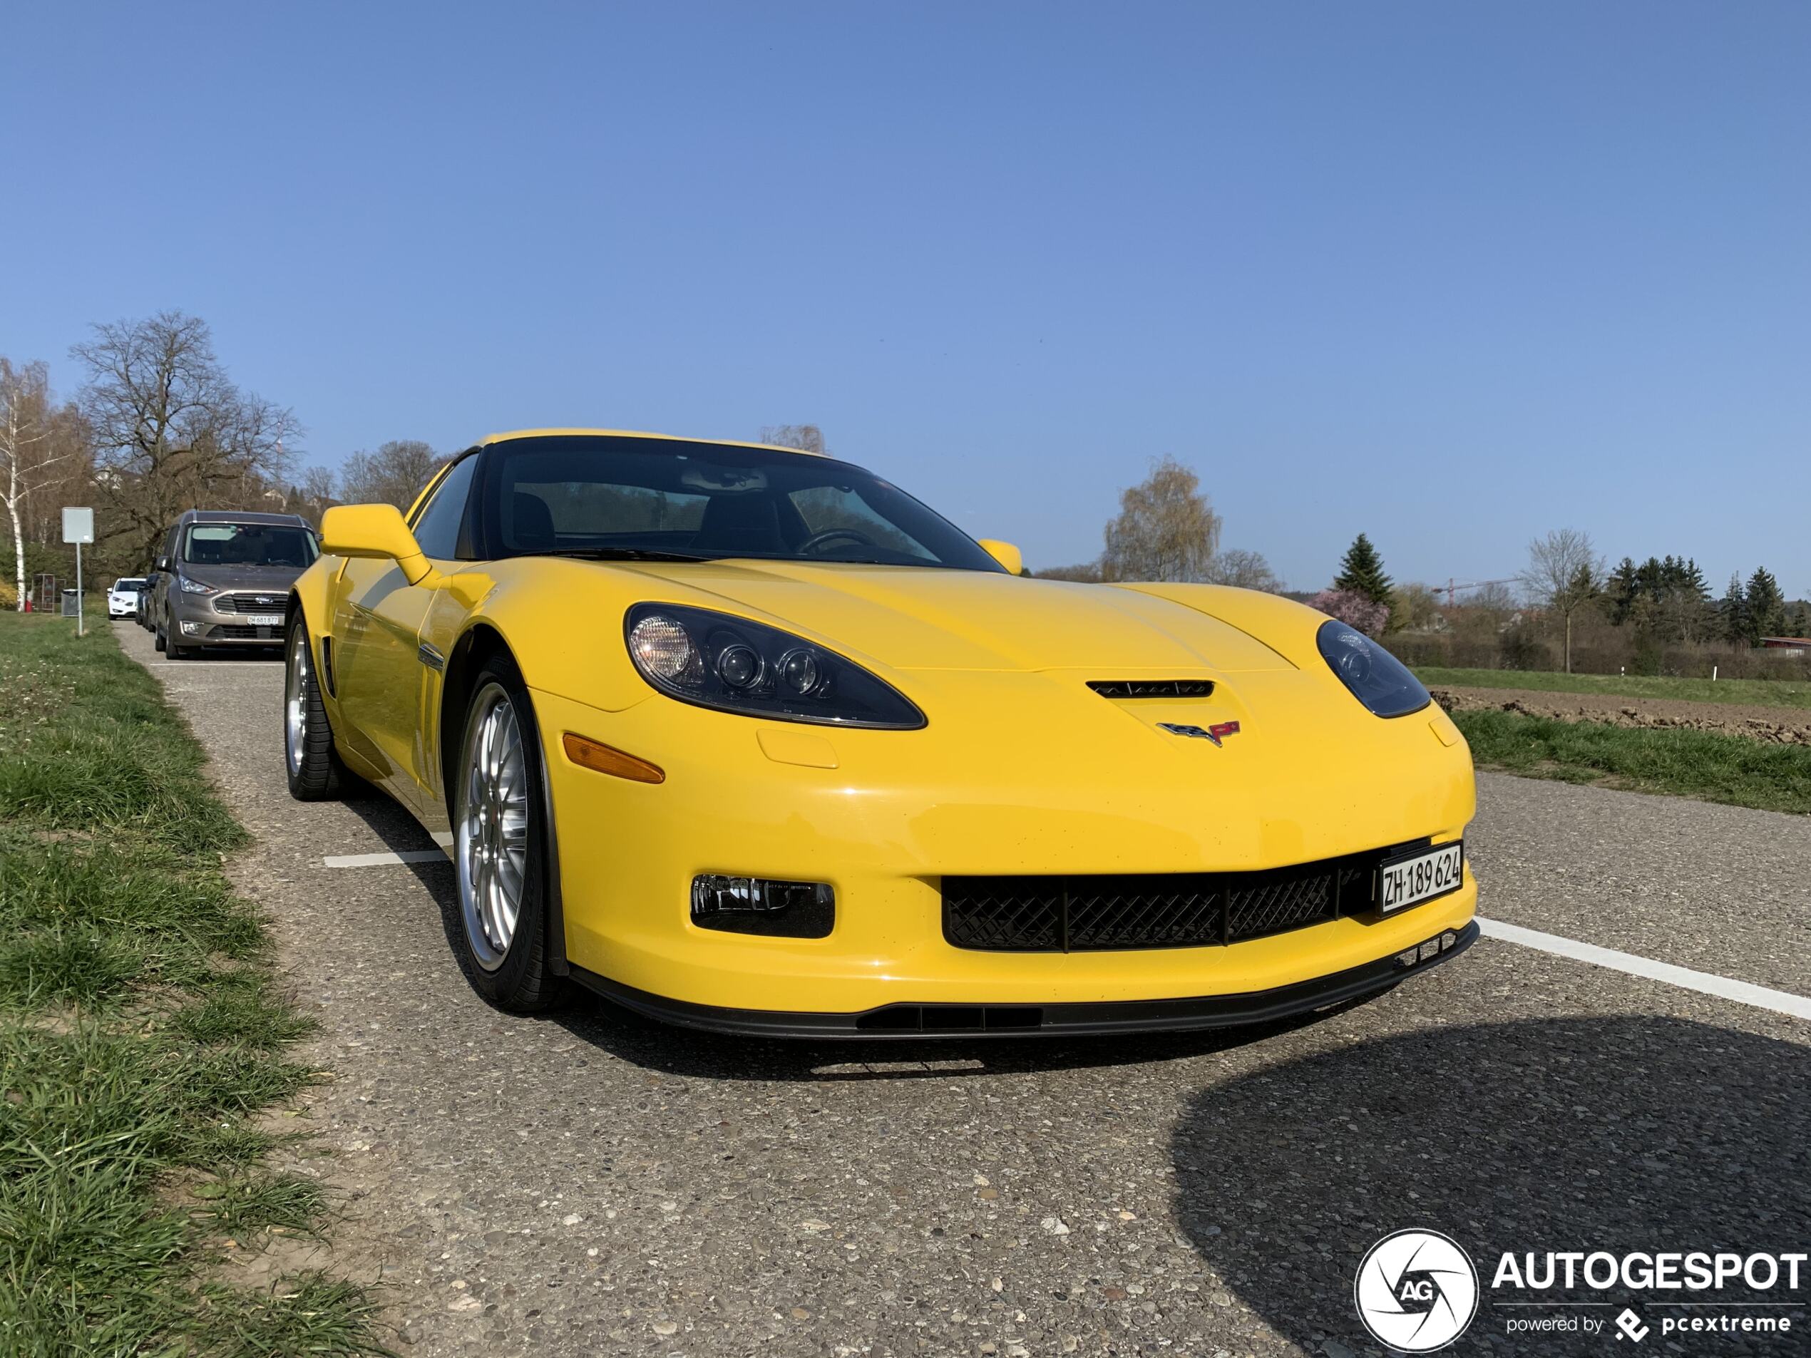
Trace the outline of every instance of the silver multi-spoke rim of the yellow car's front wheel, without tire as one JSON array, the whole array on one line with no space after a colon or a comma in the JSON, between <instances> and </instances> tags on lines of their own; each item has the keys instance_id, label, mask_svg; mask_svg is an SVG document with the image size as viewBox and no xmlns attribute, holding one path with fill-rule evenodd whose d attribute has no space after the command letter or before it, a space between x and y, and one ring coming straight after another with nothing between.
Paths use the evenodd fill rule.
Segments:
<instances>
[{"instance_id":1,"label":"silver multi-spoke rim of the yellow car's front wheel, without tire","mask_svg":"<svg viewBox=\"0 0 1811 1358\"><path fill-rule=\"evenodd\" d=\"M456 827L458 900L473 958L503 965L529 875L529 764L502 684L485 684L465 726Z\"/></svg>"}]
</instances>

